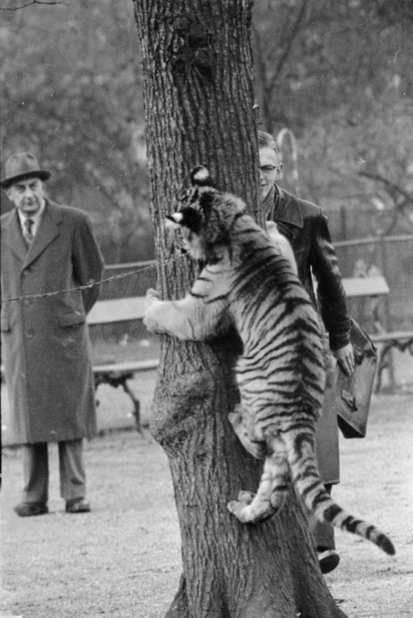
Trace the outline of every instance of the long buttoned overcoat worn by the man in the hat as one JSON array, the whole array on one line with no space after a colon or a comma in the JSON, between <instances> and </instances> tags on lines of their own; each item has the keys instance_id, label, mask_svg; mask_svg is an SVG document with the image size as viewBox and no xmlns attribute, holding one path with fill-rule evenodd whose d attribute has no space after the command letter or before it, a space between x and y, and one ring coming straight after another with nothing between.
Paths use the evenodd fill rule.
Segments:
<instances>
[{"instance_id":1,"label":"long buttoned overcoat worn by the man in the hat","mask_svg":"<svg viewBox=\"0 0 413 618\"><path fill-rule=\"evenodd\" d=\"M85 285L102 272L92 225L80 210L47 200L29 249L17 210L1 216L1 344L17 444L96 432L86 315L99 288L8 299Z\"/></svg>"}]
</instances>

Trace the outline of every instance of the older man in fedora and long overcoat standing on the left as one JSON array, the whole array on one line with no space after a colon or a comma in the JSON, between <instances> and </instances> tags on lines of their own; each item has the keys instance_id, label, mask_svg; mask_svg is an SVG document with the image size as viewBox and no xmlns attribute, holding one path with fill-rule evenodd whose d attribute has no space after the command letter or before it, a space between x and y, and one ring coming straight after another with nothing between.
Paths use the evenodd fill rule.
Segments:
<instances>
[{"instance_id":1,"label":"older man in fedora and long overcoat standing on the left","mask_svg":"<svg viewBox=\"0 0 413 618\"><path fill-rule=\"evenodd\" d=\"M100 280L103 258L89 218L45 197L49 177L19 152L0 181L14 204L1 216L1 344L10 424L23 445L21 517L48 512L48 442L59 444L66 512L90 510L83 438L94 435L96 413L86 315L99 288L81 287Z\"/></svg>"}]
</instances>

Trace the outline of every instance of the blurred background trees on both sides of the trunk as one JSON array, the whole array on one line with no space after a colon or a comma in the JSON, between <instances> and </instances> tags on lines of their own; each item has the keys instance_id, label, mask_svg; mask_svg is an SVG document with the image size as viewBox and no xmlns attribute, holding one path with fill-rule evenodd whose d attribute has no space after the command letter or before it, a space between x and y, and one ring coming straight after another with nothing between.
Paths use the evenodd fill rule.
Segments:
<instances>
[{"instance_id":1,"label":"blurred background trees on both sides of the trunk","mask_svg":"<svg viewBox=\"0 0 413 618\"><path fill-rule=\"evenodd\" d=\"M1 18L2 161L34 150L52 198L89 212L107 262L153 258L131 1ZM286 140L282 184L324 206L335 240L413 231L412 26L411 0L255 2L260 127L294 132L299 183Z\"/></svg>"}]
</instances>

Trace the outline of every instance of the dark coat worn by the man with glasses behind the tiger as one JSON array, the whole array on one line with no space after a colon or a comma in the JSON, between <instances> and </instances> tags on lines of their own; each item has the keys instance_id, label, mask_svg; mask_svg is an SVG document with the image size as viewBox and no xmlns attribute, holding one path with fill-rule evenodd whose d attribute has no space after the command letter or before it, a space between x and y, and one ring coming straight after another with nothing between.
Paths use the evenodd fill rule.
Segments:
<instances>
[{"instance_id":1,"label":"dark coat worn by the man with glasses behind the tiger","mask_svg":"<svg viewBox=\"0 0 413 618\"><path fill-rule=\"evenodd\" d=\"M350 318L328 220L319 206L280 187L276 189L269 218L277 223L279 231L293 247L299 279L321 313L330 349L339 349L350 341ZM313 277L317 281L317 292ZM332 409L333 386L330 368L316 435L317 461L324 483L339 482L339 436L337 417Z\"/></svg>"}]
</instances>

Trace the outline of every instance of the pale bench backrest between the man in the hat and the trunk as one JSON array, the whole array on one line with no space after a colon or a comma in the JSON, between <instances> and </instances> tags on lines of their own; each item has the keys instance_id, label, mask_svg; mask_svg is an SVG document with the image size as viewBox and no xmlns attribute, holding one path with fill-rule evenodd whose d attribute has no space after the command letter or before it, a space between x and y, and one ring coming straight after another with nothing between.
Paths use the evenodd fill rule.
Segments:
<instances>
[{"instance_id":1,"label":"pale bench backrest between the man in the hat and the trunk","mask_svg":"<svg viewBox=\"0 0 413 618\"><path fill-rule=\"evenodd\" d=\"M142 320L145 315L145 296L98 300L87 316L87 324L115 324Z\"/></svg>"}]
</instances>

